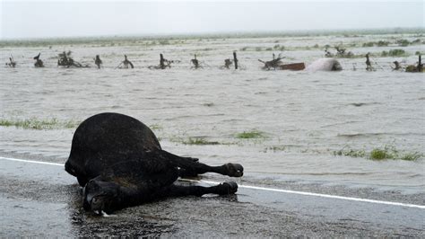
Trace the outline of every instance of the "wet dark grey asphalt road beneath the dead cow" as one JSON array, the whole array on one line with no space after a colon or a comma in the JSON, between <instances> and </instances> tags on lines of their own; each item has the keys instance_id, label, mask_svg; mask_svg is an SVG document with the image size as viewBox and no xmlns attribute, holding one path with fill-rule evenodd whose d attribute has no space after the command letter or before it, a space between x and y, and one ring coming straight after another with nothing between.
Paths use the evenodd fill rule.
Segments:
<instances>
[{"instance_id":1,"label":"wet dark grey asphalt road beneath the dead cow","mask_svg":"<svg viewBox=\"0 0 425 239\"><path fill-rule=\"evenodd\" d=\"M39 160L48 159L40 157ZM229 179L212 175L208 180ZM285 187L417 205L424 205L425 199L423 194L402 195L293 182ZM80 188L62 167L2 159L0 201L0 237L304 235L423 238L425 229L423 208L245 188L239 188L237 195L231 197L165 199L117 211L112 217L97 217L83 211Z\"/></svg>"}]
</instances>

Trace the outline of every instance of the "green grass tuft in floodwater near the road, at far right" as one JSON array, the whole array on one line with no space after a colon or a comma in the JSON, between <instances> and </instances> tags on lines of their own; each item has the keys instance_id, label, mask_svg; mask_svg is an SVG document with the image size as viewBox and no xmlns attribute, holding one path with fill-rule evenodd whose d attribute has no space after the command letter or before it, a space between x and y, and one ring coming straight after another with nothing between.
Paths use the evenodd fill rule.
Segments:
<instances>
[{"instance_id":1,"label":"green grass tuft in floodwater near the road, at far right","mask_svg":"<svg viewBox=\"0 0 425 239\"><path fill-rule=\"evenodd\" d=\"M366 150L355 150L351 148L343 148L341 150L334 151L334 155L343 155L349 157L364 157L370 160L406 160L416 161L424 155L419 152L403 152L395 148L395 146L384 146L377 147L367 152Z\"/></svg>"}]
</instances>

